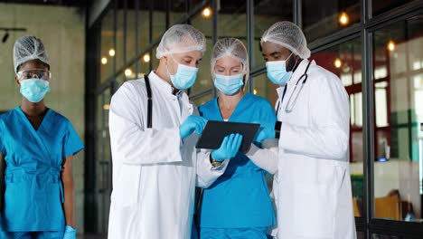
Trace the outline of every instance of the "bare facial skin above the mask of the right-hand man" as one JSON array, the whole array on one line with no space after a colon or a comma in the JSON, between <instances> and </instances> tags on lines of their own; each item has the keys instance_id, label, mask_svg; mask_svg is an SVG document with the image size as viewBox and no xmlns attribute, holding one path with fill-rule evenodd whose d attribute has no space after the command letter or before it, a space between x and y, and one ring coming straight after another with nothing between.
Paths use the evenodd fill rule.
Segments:
<instances>
[{"instance_id":1,"label":"bare facial skin above the mask of the right-hand man","mask_svg":"<svg viewBox=\"0 0 423 239\"><path fill-rule=\"evenodd\" d=\"M295 72L298 67L301 58L296 54L291 55L286 47L283 47L277 43L265 42L261 46L261 55L266 62L286 61L287 60L287 72ZM291 55L291 57L289 57ZM289 59L287 59L289 57Z\"/></svg>"}]
</instances>

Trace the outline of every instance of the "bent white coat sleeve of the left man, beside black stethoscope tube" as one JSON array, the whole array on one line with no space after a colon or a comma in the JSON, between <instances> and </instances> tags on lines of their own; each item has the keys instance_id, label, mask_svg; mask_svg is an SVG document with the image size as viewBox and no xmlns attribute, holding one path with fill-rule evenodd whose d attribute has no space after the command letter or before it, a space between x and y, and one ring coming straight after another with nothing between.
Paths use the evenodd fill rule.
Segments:
<instances>
[{"instance_id":1,"label":"bent white coat sleeve of the left man, beside black stethoscope tube","mask_svg":"<svg viewBox=\"0 0 423 239\"><path fill-rule=\"evenodd\" d=\"M109 110L112 152L125 164L152 165L180 162L179 128L146 129L144 112L134 85L125 83L114 94ZM141 119L141 120L139 120Z\"/></svg>"}]
</instances>

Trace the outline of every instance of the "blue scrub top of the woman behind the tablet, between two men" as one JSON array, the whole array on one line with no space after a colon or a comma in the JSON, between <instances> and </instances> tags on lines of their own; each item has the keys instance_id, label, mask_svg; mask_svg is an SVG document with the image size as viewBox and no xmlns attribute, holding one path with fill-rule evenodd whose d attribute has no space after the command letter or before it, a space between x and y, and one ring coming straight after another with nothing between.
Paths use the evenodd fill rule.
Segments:
<instances>
[{"instance_id":1,"label":"blue scrub top of the woman behind the tablet, between two men","mask_svg":"<svg viewBox=\"0 0 423 239\"><path fill-rule=\"evenodd\" d=\"M202 117L223 121L217 99L200 107ZM230 116L230 122L276 121L268 100L246 94ZM245 228L275 225L275 213L270 201L267 172L238 152L225 173L202 194L200 226L212 228Z\"/></svg>"}]
</instances>

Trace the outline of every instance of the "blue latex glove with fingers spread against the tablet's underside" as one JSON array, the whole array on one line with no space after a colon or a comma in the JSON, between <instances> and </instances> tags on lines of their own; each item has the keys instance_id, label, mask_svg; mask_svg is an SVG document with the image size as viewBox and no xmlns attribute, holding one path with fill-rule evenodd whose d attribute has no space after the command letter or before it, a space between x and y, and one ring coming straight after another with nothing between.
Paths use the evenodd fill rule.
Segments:
<instances>
[{"instance_id":1,"label":"blue latex glove with fingers spread against the tablet's underside","mask_svg":"<svg viewBox=\"0 0 423 239\"><path fill-rule=\"evenodd\" d=\"M234 158L240 150L241 142L242 135L240 134L230 134L226 136L223 142L221 142L221 148L211 151L211 158L219 162L226 158Z\"/></svg>"}]
</instances>

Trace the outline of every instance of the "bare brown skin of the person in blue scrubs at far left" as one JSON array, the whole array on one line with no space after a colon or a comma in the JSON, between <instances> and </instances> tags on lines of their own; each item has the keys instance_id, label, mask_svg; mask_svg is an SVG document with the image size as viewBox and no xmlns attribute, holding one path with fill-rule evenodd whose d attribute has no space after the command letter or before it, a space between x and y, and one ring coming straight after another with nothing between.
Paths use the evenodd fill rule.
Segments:
<instances>
[{"instance_id":1,"label":"bare brown skin of the person in blue scrubs at far left","mask_svg":"<svg viewBox=\"0 0 423 239\"><path fill-rule=\"evenodd\" d=\"M50 67L39 60L32 60L21 64L18 67L18 72L30 69L44 69L46 71L49 71ZM17 86L20 88L21 82L17 79L17 76L14 76L14 80L16 81ZM20 107L24 111L26 118L33 125L33 129L38 130L42 124L42 119L44 119L44 116L48 111L48 108L44 104L44 100L33 103L23 97ZM0 160L3 159L3 155L0 154ZM65 215L66 225L71 225L71 227L75 228L75 186L72 173L72 156L63 158L61 166L61 182L63 183L65 197L65 203L62 206Z\"/></svg>"}]
</instances>

